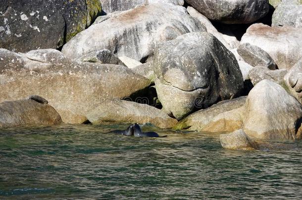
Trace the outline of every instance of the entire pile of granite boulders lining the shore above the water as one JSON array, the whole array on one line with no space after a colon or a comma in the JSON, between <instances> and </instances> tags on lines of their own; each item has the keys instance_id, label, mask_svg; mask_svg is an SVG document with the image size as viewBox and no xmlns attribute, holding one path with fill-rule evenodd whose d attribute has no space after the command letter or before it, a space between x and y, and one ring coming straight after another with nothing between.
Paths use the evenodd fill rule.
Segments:
<instances>
[{"instance_id":1,"label":"entire pile of granite boulders lining the shore above the water","mask_svg":"<svg viewBox=\"0 0 302 200\"><path fill-rule=\"evenodd\" d=\"M65 123L235 131L230 149L302 137L301 0L44 1L0 5L6 116L37 94ZM11 124L62 122L44 109Z\"/></svg>"}]
</instances>

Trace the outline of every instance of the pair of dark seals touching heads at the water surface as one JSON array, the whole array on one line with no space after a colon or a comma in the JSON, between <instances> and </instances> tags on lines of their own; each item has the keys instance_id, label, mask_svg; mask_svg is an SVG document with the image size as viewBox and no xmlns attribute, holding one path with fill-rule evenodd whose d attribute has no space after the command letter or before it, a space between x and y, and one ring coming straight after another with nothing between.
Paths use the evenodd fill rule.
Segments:
<instances>
[{"instance_id":1,"label":"pair of dark seals touching heads at the water surface","mask_svg":"<svg viewBox=\"0 0 302 200\"><path fill-rule=\"evenodd\" d=\"M131 124L126 130L114 130L110 131L109 133L115 133L119 135L126 135L126 136L134 136L134 137L161 137L155 132L142 132L142 129L139 124ZM162 136L162 137L167 137Z\"/></svg>"}]
</instances>

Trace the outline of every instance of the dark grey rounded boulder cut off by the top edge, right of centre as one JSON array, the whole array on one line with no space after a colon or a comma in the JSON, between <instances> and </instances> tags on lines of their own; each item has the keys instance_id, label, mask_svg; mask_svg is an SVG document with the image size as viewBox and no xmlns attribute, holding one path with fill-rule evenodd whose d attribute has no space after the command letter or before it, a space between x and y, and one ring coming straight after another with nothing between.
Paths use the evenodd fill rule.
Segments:
<instances>
[{"instance_id":1,"label":"dark grey rounded boulder cut off by the top edge, right of centre","mask_svg":"<svg viewBox=\"0 0 302 200\"><path fill-rule=\"evenodd\" d=\"M226 24L249 24L264 17L268 0L186 0L201 14Z\"/></svg>"}]
</instances>

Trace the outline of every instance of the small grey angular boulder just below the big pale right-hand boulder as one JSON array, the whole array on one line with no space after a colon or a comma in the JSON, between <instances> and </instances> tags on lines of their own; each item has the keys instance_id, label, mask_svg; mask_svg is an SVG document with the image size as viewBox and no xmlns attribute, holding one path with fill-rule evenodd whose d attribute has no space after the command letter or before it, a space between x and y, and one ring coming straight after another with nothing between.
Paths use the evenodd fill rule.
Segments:
<instances>
[{"instance_id":1,"label":"small grey angular boulder just below the big pale right-hand boulder","mask_svg":"<svg viewBox=\"0 0 302 200\"><path fill-rule=\"evenodd\" d=\"M240 57L252 67L266 67L271 70L276 69L276 63L263 49L250 43L242 43L237 49Z\"/></svg>"}]
</instances>

